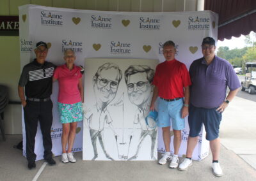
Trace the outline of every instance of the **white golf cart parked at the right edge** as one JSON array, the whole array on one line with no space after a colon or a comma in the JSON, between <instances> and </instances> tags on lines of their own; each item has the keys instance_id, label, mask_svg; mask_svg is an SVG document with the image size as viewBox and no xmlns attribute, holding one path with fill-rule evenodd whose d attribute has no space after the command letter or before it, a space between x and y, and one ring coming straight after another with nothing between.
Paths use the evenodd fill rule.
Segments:
<instances>
[{"instance_id":1,"label":"white golf cart parked at the right edge","mask_svg":"<svg viewBox=\"0 0 256 181\"><path fill-rule=\"evenodd\" d=\"M256 90L256 62L246 63L246 74L241 82L241 91L248 91L249 94L254 94Z\"/></svg>"}]
</instances>

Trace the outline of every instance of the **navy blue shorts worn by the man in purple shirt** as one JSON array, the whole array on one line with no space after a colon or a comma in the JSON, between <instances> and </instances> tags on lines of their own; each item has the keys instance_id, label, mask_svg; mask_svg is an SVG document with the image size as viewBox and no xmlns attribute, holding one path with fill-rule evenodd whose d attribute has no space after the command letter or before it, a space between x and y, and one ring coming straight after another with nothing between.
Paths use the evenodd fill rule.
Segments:
<instances>
[{"instance_id":1,"label":"navy blue shorts worn by the man in purple shirt","mask_svg":"<svg viewBox=\"0 0 256 181\"><path fill-rule=\"evenodd\" d=\"M219 137L222 115L216 109L197 108L191 104L189 105L188 124L190 137L199 135L203 123L206 131L206 140L211 141Z\"/></svg>"}]
</instances>

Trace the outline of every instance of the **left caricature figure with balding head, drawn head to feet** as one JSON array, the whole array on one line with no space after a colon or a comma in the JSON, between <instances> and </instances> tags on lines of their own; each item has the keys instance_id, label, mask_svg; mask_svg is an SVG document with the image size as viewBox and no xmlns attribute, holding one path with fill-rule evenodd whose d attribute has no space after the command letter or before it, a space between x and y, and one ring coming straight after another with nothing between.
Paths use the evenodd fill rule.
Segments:
<instances>
[{"instance_id":1,"label":"left caricature figure with balding head, drawn head to feet","mask_svg":"<svg viewBox=\"0 0 256 181\"><path fill-rule=\"evenodd\" d=\"M95 95L96 104L86 112L84 118L87 120L88 127L90 129L90 136L92 140L95 160L98 157L97 152L97 138L99 139L100 147L102 148L106 158L113 160L109 156L106 148L104 147L104 140L102 134L104 130L104 124L113 131L115 139L117 135L115 129L113 129L111 115L108 112L108 105L115 99L118 85L122 79L122 71L120 68L111 62L107 62L100 66L93 76L93 91Z\"/></svg>"}]
</instances>

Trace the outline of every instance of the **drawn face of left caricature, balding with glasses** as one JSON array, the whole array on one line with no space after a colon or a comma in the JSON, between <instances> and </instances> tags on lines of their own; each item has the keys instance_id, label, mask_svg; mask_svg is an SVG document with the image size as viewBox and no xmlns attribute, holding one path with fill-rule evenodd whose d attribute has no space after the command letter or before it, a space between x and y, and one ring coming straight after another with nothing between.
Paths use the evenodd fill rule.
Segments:
<instances>
[{"instance_id":1,"label":"drawn face of left caricature, balding with glasses","mask_svg":"<svg viewBox=\"0 0 256 181\"><path fill-rule=\"evenodd\" d=\"M97 102L109 103L118 89L118 70L115 68L102 69L98 78L93 77L93 89Z\"/></svg>"}]
</instances>

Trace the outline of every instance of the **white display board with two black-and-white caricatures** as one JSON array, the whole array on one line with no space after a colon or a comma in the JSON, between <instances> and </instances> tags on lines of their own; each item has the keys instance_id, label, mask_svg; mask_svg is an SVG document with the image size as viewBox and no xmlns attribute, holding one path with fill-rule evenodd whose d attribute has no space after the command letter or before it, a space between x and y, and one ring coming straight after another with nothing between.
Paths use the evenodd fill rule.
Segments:
<instances>
[{"instance_id":1,"label":"white display board with two black-and-white caricatures","mask_svg":"<svg viewBox=\"0 0 256 181\"><path fill-rule=\"evenodd\" d=\"M145 121L157 64L151 59L86 59L83 159L157 158L157 127Z\"/></svg>"}]
</instances>

